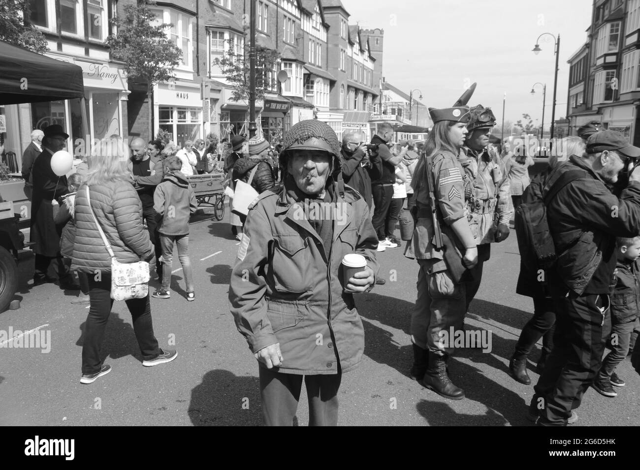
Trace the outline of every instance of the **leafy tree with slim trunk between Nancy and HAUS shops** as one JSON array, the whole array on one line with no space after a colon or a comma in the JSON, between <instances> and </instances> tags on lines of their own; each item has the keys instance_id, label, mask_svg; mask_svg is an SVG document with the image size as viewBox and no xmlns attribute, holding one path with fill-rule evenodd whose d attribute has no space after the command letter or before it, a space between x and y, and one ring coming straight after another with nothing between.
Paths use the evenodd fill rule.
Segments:
<instances>
[{"instance_id":1,"label":"leafy tree with slim trunk between Nancy and HAUS shops","mask_svg":"<svg viewBox=\"0 0 640 470\"><path fill-rule=\"evenodd\" d=\"M107 38L113 57L125 63L129 80L147 86L149 107L149 137L152 131L152 90L155 84L175 79L173 68L182 59L182 51L166 35L172 24L156 24L156 15L149 8L156 3L138 0L137 5L124 7L124 17L116 17L111 23L117 27L116 35Z\"/></svg>"}]
</instances>

